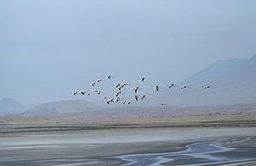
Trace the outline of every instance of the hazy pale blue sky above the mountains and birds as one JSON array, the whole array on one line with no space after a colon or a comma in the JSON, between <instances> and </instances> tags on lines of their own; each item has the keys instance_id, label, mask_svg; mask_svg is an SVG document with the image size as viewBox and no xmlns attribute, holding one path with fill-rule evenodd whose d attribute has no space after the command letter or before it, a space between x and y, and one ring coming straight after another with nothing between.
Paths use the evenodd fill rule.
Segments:
<instances>
[{"instance_id":1,"label":"hazy pale blue sky above the mountains and birds","mask_svg":"<svg viewBox=\"0 0 256 166\"><path fill-rule=\"evenodd\" d=\"M256 53L255 0L0 0L0 99L77 99L112 74L179 81Z\"/></svg>"}]
</instances>

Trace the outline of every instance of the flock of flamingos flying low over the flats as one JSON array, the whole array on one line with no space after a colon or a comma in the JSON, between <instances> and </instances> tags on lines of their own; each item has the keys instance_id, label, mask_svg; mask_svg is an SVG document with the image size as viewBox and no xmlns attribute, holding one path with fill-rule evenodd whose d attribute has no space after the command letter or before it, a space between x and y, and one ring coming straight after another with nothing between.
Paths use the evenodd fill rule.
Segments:
<instances>
[{"instance_id":1,"label":"flock of flamingos flying low over the flats","mask_svg":"<svg viewBox=\"0 0 256 166\"><path fill-rule=\"evenodd\" d=\"M106 79L110 80L110 79L112 79L112 76L108 75L106 77ZM146 82L146 79L145 78L141 78L141 79L138 79L136 81L144 83L144 82ZM94 88L94 87L96 87L97 84L100 84L101 82L102 82L102 79L99 78L99 79L94 80L90 85L91 85L92 88ZM122 90L123 90L123 88L128 86L127 83L117 83L114 86L117 89L117 92L114 93L114 97L111 97L111 98L103 97L103 99L105 100L105 102L107 104L110 104L112 102L118 102L118 103L121 103L123 105L125 105L125 104L126 105L130 105L130 104L132 104L135 101L146 99L146 95L143 95L141 97L137 95L138 91L143 89L140 86L136 86L136 87L131 88L131 90L134 91L133 101L125 100L125 99L121 98L121 94L123 94ZM167 88L169 88L169 89L171 89L171 88L185 89L185 88L190 88L190 87L188 87L187 85L178 87L178 86L176 86L176 84L172 83L172 84L168 85ZM207 89L207 88L213 88L213 87L211 85L206 85L206 86L203 86L202 88ZM158 92L160 90L160 87L158 85L155 85L155 87L153 89L155 89L155 91ZM80 91L74 91L73 92L73 95L93 95L93 94L101 95L101 90L93 89L93 90L90 90L90 91L80 90ZM166 106L167 103L161 103L160 105L161 106Z\"/></svg>"}]
</instances>

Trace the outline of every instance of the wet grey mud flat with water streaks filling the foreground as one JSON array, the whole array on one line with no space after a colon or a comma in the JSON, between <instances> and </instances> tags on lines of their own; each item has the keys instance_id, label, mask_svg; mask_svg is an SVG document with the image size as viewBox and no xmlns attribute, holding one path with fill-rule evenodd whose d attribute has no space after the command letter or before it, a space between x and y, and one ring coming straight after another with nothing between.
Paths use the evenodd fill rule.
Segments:
<instances>
[{"instance_id":1,"label":"wet grey mud flat with water streaks filling the foreground","mask_svg":"<svg viewBox=\"0 0 256 166\"><path fill-rule=\"evenodd\" d=\"M20 132L0 135L0 165L253 165L256 128Z\"/></svg>"}]
</instances>

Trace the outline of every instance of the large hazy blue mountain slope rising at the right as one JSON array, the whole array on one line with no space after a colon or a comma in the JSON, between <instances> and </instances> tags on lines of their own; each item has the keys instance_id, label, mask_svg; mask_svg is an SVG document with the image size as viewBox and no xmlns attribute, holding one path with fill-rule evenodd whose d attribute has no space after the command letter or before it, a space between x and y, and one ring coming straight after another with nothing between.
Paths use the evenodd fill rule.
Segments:
<instances>
[{"instance_id":1,"label":"large hazy blue mountain slope rising at the right","mask_svg":"<svg viewBox=\"0 0 256 166\"><path fill-rule=\"evenodd\" d=\"M147 104L171 106L207 106L256 103L256 56L250 59L219 60L210 67L177 83L190 89L173 88L151 94ZM210 84L213 88L204 89Z\"/></svg>"}]
</instances>

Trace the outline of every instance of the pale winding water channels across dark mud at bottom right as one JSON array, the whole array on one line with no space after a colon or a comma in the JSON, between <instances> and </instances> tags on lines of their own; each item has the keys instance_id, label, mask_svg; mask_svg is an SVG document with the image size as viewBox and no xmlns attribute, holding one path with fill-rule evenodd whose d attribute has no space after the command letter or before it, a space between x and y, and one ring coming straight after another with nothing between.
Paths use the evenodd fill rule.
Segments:
<instances>
[{"instance_id":1,"label":"pale winding water channels across dark mud at bottom right","mask_svg":"<svg viewBox=\"0 0 256 166\"><path fill-rule=\"evenodd\" d=\"M246 141L244 140L229 140L232 141ZM254 161L256 158L238 158L225 157L223 152L237 150L234 148L227 148L220 146L218 142L199 142L187 145L186 150L177 152L165 153L147 153L147 154L133 154L123 155L117 158L127 161L123 166L160 166L160 165L182 165L182 166L201 166L201 165L219 165L224 163L239 162L239 161ZM240 150L237 150L237 152Z\"/></svg>"}]
</instances>

